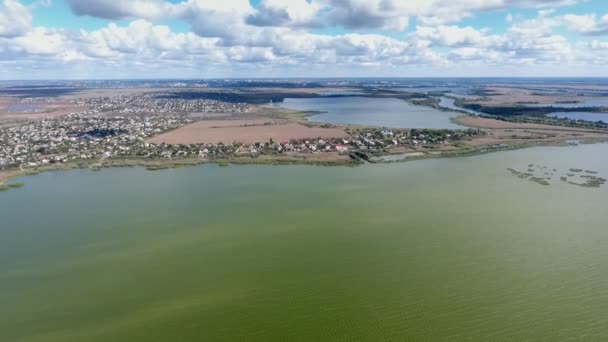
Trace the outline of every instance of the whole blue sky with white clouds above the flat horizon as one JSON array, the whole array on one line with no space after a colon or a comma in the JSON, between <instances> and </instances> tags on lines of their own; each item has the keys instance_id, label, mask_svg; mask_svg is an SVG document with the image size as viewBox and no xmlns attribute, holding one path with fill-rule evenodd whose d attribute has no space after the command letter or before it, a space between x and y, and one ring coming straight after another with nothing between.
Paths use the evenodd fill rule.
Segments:
<instances>
[{"instance_id":1,"label":"whole blue sky with white clouds above the flat horizon","mask_svg":"<svg viewBox=\"0 0 608 342\"><path fill-rule=\"evenodd\" d=\"M608 0L0 0L0 80L608 76Z\"/></svg>"}]
</instances>

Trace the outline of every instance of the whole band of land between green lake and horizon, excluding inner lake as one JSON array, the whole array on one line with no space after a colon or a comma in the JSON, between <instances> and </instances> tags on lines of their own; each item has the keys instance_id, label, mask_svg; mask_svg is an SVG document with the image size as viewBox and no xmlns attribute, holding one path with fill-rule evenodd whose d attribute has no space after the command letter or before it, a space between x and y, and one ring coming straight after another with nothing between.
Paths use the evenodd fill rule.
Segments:
<instances>
[{"instance_id":1,"label":"whole band of land between green lake and horizon, excluding inner lake","mask_svg":"<svg viewBox=\"0 0 608 342\"><path fill-rule=\"evenodd\" d=\"M399 89L396 81L364 82L210 80L8 85L0 96L0 171L125 160L244 162L259 157L361 163L386 154L469 154L569 139L607 138L605 122L549 115L556 104L593 101L601 95L581 97L580 91L589 91L589 87L578 92L565 87L558 97L554 89L543 94L536 88L519 86L463 83L452 88L425 85L395 90ZM448 90L436 90L442 87ZM291 97L323 96L409 101L419 106L411 108L449 111L460 126L406 129L382 124L316 123L307 119L315 112L268 105ZM534 105L545 101L554 104ZM586 109L598 118L606 111L601 106Z\"/></svg>"}]
</instances>

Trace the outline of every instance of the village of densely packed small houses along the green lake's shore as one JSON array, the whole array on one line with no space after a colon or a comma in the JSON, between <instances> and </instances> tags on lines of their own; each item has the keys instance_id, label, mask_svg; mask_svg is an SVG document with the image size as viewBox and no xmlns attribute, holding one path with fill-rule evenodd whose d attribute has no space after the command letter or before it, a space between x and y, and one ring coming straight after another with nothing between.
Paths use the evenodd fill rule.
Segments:
<instances>
[{"instance_id":1,"label":"village of densely packed small houses along the green lake's shore","mask_svg":"<svg viewBox=\"0 0 608 342\"><path fill-rule=\"evenodd\" d=\"M241 113L254 107L215 100L154 100L140 95L89 99L85 104L90 108L87 111L1 128L0 170L117 159L213 161L259 155L382 153L393 146L436 146L483 134L474 129L357 128L346 129L347 137L339 138L269 139L245 144L234 136L228 139L231 143L151 143L153 136L201 120L188 113Z\"/></svg>"}]
</instances>

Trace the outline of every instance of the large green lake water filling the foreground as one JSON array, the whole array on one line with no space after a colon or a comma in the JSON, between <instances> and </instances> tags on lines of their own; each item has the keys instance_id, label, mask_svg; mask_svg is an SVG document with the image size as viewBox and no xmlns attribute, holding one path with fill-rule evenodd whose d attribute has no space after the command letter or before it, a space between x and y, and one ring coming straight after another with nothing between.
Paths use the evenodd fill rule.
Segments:
<instances>
[{"instance_id":1,"label":"large green lake water filling the foreground","mask_svg":"<svg viewBox=\"0 0 608 342\"><path fill-rule=\"evenodd\" d=\"M45 173L0 193L0 341L605 341L608 145Z\"/></svg>"}]
</instances>

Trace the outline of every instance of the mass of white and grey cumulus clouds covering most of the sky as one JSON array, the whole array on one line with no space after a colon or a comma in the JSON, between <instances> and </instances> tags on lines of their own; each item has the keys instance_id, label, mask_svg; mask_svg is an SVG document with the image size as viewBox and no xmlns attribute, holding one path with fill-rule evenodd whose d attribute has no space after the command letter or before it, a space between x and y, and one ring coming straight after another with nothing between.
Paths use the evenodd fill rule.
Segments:
<instances>
[{"instance_id":1,"label":"mass of white and grey cumulus clouds covering most of the sky","mask_svg":"<svg viewBox=\"0 0 608 342\"><path fill-rule=\"evenodd\" d=\"M249 0L66 0L79 15L126 21L92 31L32 28L34 7L0 1L0 18L25 18L23 25L0 20L0 71L9 63L15 64L11 70L29 63L48 70L86 65L116 72L183 70L190 76L194 70L264 68L399 75L408 67L496 71L608 62L607 42L576 42L556 33L564 26L584 35L604 32L606 16L553 12L575 0L262 0L256 7ZM505 8L536 8L538 15L514 11L501 32L458 24L480 11ZM404 33L412 18L417 26ZM183 21L191 31L174 32L161 24L165 19ZM321 27L346 33L313 30Z\"/></svg>"}]
</instances>

